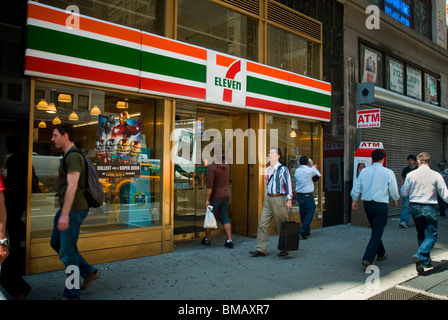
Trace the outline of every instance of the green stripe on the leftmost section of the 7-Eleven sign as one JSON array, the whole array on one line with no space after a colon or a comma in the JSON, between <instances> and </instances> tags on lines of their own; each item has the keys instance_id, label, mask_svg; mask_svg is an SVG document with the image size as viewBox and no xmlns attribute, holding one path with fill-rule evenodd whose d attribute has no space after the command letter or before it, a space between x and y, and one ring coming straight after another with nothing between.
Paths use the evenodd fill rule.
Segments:
<instances>
[{"instance_id":1,"label":"green stripe on the leftmost section of the 7-Eleven sign","mask_svg":"<svg viewBox=\"0 0 448 320\"><path fill-rule=\"evenodd\" d=\"M140 50L28 25L27 47L73 58L140 69Z\"/></svg>"}]
</instances>

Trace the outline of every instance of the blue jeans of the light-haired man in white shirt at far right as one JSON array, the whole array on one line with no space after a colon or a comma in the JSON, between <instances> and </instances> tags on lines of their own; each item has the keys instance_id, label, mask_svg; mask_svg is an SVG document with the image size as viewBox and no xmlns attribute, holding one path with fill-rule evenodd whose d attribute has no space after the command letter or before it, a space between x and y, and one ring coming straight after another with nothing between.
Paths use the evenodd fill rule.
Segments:
<instances>
[{"instance_id":1,"label":"blue jeans of the light-haired man in white shirt at far right","mask_svg":"<svg viewBox=\"0 0 448 320\"><path fill-rule=\"evenodd\" d=\"M418 251L414 255L425 267L431 263L430 252L437 241L437 211L434 205L410 205L417 229Z\"/></svg>"}]
</instances>

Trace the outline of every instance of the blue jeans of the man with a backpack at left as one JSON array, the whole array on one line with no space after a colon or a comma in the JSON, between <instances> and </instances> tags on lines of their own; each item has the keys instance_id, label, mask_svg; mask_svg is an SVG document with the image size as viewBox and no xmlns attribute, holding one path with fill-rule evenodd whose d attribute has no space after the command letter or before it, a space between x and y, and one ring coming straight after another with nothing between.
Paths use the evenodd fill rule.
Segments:
<instances>
[{"instance_id":1,"label":"blue jeans of the man with a backpack at left","mask_svg":"<svg viewBox=\"0 0 448 320\"><path fill-rule=\"evenodd\" d=\"M81 224L87 217L89 210L71 210L69 213L69 228L65 231L57 229L59 210L54 217L53 234L51 235L51 247L59 254L59 259L64 263L65 268L74 265L79 268L81 277L87 277L94 268L87 263L86 260L78 252L78 238ZM68 274L70 276L71 274ZM80 288L80 284L76 287ZM64 289L63 296L69 299L79 298L81 296L81 289Z\"/></svg>"}]
</instances>

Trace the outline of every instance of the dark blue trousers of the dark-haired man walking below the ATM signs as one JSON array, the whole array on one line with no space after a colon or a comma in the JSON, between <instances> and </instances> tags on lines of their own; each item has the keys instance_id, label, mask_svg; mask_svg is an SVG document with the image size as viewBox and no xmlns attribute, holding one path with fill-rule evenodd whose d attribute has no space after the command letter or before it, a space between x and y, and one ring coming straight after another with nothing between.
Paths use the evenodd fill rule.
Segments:
<instances>
[{"instance_id":1,"label":"dark blue trousers of the dark-haired man walking below the ATM signs","mask_svg":"<svg viewBox=\"0 0 448 320\"><path fill-rule=\"evenodd\" d=\"M372 263L375 256L382 257L386 253L381 240L387 224L387 203L365 201L364 210L370 223L372 234L362 260Z\"/></svg>"}]
</instances>

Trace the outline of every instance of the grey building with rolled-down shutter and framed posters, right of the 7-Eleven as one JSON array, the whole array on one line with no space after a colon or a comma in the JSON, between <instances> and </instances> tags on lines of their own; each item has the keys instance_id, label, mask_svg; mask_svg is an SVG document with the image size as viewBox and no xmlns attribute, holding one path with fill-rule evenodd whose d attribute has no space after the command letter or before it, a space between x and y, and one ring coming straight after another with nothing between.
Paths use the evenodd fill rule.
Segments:
<instances>
[{"instance_id":1,"label":"grey building with rolled-down shutter and framed posters, right of the 7-Eleven","mask_svg":"<svg viewBox=\"0 0 448 320\"><path fill-rule=\"evenodd\" d=\"M401 182L410 154L429 152L432 169L447 159L448 52L446 1L343 1L344 181L350 216L353 159L361 141L382 142L387 167ZM370 99L357 91L373 83ZM361 85L362 86L362 85ZM379 127L357 128L357 111L379 109ZM390 206L390 215L399 215ZM352 212L352 214L354 214Z\"/></svg>"}]
</instances>

